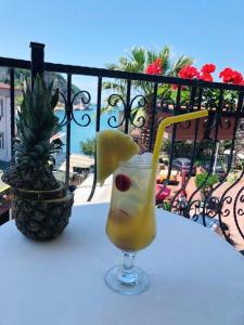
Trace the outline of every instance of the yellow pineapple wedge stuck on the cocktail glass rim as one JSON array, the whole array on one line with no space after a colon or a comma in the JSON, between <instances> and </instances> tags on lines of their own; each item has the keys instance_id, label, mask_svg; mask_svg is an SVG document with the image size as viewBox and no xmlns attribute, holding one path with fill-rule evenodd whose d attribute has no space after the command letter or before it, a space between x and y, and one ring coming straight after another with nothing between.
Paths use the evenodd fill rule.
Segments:
<instances>
[{"instance_id":1,"label":"yellow pineapple wedge stuck on the cocktail glass rim","mask_svg":"<svg viewBox=\"0 0 244 325\"><path fill-rule=\"evenodd\" d=\"M104 130L97 135L97 174L101 185L120 165L140 151L132 138L118 130Z\"/></svg>"}]
</instances>

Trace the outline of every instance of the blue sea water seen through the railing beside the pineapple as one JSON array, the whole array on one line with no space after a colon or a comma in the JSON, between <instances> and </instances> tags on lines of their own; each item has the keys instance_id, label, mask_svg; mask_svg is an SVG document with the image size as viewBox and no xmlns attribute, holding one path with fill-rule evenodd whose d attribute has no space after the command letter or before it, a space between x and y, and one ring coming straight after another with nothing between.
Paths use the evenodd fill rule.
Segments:
<instances>
[{"instance_id":1,"label":"blue sea water seen through the railing beside the pineapple","mask_svg":"<svg viewBox=\"0 0 244 325\"><path fill-rule=\"evenodd\" d=\"M97 123L97 114L95 106L90 106L90 110L74 110L74 118L70 125L70 153L81 153L80 142L87 141L95 138L95 123ZM59 117L60 122L64 118L64 110L55 110L55 116ZM113 118L116 118L116 120ZM89 121L88 126L86 126ZM118 125L118 113L103 113L100 116L100 130L111 129L108 122L111 121L112 126ZM66 126L61 130L62 133L66 133ZM66 136L62 138L63 143L66 145Z\"/></svg>"}]
</instances>

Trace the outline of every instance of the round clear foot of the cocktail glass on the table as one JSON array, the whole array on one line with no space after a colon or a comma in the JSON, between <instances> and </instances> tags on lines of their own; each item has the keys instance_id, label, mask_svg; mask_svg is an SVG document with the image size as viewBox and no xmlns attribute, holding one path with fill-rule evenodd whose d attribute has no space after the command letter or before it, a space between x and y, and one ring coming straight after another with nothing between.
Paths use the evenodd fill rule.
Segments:
<instances>
[{"instance_id":1,"label":"round clear foot of the cocktail glass on the table","mask_svg":"<svg viewBox=\"0 0 244 325\"><path fill-rule=\"evenodd\" d=\"M106 285L121 295L140 295L150 286L149 275L141 269L133 266L132 274L125 273L123 265L112 268L105 274Z\"/></svg>"}]
</instances>

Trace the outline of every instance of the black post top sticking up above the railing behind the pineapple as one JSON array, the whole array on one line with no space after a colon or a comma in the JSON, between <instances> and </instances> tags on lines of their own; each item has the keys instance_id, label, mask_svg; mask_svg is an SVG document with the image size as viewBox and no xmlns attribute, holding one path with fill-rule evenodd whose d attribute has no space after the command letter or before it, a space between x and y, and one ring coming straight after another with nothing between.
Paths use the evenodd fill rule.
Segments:
<instances>
[{"instance_id":1,"label":"black post top sticking up above the railing behind the pineapple","mask_svg":"<svg viewBox=\"0 0 244 325\"><path fill-rule=\"evenodd\" d=\"M44 44L30 42L29 47L31 49L31 89L34 88L34 81L36 76L42 75L44 72Z\"/></svg>"}]
</instances>

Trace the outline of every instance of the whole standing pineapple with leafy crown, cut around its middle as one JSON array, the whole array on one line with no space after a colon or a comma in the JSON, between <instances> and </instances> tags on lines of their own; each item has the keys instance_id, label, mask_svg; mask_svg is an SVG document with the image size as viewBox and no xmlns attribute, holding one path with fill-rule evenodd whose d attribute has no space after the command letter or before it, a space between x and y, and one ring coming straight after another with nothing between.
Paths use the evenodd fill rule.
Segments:
<instances>
[{"instance_id":1,"label":"whole standing pineapple with leafy crown, cut around its middle","mask_svg":"<svg viewBox=\"0 0 244 325\"><path fill-rule=\"evenodd\" d=\"M16 120L15 162L2 176L12 187L12 217L17 229L36 240L59 236L74 203L74 195L52 173L55 148L50 139L60 130L53 113L59 90L52 94L52 88L40 76L33 89L27 84Z\"/></svg>"}]
</instances>

